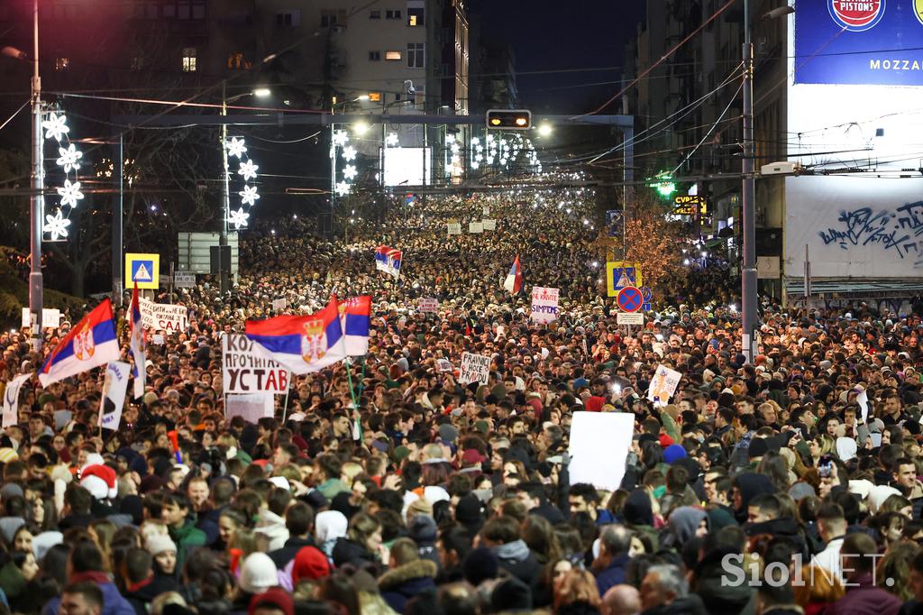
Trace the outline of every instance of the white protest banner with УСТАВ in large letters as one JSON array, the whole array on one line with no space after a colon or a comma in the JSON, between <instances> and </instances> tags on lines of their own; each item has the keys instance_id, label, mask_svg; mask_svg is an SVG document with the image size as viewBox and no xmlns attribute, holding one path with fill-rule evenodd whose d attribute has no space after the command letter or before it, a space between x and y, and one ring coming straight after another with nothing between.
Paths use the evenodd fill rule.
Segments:
<instances>
[{"instance_id":1,"label":"white protest banner with \u0423\u0421\u0422\u0410\u0412 in large letters","mask_svg":"<svg viewBox=\"0 0 923 615\"><path fill-rule=\"evenodd\" d=\"M240 333L222 337L222 384L226 393L284 393L288 368L262 355Z\"/></svg>"}]
</instances>

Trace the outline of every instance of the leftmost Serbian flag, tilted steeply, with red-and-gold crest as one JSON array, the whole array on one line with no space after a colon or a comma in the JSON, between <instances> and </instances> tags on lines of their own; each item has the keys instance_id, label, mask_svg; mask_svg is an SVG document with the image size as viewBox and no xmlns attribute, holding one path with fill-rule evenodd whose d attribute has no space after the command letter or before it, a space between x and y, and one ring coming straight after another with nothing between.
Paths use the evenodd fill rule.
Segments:
<instances>
[{"instance_id":1,"label":"leftmost Serbian flag, tilted steeply, with red-and-gold crest","mask_svg":"<svg viewBox=\"0 0 923 615\"><path fill-rule=\"evenodd\" d=\"M83 317L52 351L39 371L43 387L119 358L113 304L105 299Z\"/></svg>"}]
</instances>

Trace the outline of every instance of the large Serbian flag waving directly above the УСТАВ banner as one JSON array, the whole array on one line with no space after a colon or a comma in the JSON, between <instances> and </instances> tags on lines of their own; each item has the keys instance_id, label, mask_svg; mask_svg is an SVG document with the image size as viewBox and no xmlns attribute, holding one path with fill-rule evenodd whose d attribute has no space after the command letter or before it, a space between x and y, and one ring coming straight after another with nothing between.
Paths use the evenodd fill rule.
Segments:
<instances>
[{"instance_id":1,"label":"large Serbian flag waving directly above the \u0423\u0421\u0422\u0410\u0412 banner","mask_svg":"<svg viewBox=\"0 0 923 615\"><path fill-rule=\"evenodd\" d=\"M255 348L294 374L319 371L346 358L336 295L326 308L308 316L247 320L245 334Z\"/></svg>"}]
</instances>

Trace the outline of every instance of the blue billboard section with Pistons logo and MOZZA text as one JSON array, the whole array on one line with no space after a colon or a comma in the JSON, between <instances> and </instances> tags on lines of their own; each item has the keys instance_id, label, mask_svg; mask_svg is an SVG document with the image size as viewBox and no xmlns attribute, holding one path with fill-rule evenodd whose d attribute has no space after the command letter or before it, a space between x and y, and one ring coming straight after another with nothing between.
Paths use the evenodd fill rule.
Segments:
<instances>
[{"instance_id":1,"label":"blue billboard section with Pistons logo and MOZZA text","mask_svg":"<svg viewBox=\"0 0 923 615\"><path fill-rule=\"evenodd\" d=\"M795 83L923 85L923 0L802 0Z\"/></svg>"}]
</instances>

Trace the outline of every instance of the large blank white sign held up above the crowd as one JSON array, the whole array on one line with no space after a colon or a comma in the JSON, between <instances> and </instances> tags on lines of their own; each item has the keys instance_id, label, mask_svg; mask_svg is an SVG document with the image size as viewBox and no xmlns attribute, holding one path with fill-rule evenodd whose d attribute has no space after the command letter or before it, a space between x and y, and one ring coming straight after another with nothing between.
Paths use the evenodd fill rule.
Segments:
<instances>
[{"instance_id":1,"label":"large blank white sign held up above the crowd","mask_svg":"<svg viewBox=\"0 0 923 615\"><path fill-rule=\"evenodd\" d=\"M606 491L619 488L633 435L632 414L575 412L570 423L570 484L590 483Z\"/></svg>"}]
</instances>

